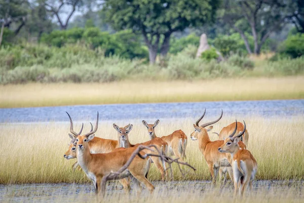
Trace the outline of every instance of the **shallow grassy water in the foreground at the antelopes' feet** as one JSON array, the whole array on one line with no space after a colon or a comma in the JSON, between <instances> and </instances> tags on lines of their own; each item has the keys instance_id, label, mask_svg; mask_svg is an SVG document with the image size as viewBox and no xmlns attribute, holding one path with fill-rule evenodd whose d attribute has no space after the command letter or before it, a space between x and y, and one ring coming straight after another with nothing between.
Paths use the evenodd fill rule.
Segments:
<instances>
[{"instance_id":1,"label":"shallow grassy water in the foreground at the antelopes' feet","mask_svg":"<svg viewBox=\"0 0 304 203\"><path fill-rule=\"evenodd\" d=\"M210 181L172 181L153 182L156 189L154 194L162 198L168 195L184 195L185 193L195 193L196 195L214 195L214 193L231 194L233 185L229 181L227 184L213 187ZM135 190L131 186L131 196L135 195ZM293 199L303 198L302 181L255 181L253 183L253 195L272 193L276 195L290 195ZM93 184L25 184L25 185L0 185L0 201L89 201L95 198ZM112 196L125 196L122 186L116 183L107 185L107 198ZM141 197L149 196L147 189L143 189Z\"/></svg>"}]
</instances>

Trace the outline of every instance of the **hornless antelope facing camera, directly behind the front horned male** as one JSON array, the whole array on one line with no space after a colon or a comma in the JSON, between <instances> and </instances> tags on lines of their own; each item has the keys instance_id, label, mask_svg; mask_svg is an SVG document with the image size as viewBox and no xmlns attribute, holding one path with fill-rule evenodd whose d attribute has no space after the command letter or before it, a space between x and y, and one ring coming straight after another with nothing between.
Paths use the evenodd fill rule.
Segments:
<instances>
[{"instance_id":1,"label":"hornless antelope facing camera, directly behind the front horned male","mask_svg":"<svg viewBox=\"0 0 304 203\"><path fill-rule=\"evenodd\" d=\"M119 147L130 148L130 147L138 147L139 145L143 145L143 146L155 145L164 155L167 155L168 143L163 141L162 139L156 138L151 141L132 145L129 141L129 133L133 129L132 124L128 124L125 127L119 127L118 125L113 123L113 127L114 127L114 129L116 129L118 131ZM150 158L155 163L158 170L161 172L161 177L162 177L162 180L164 181L165 176L166 177L168 176L168 173L166 170L166 163L162 162L160 160L160 158L156 157L156 156L151 156Z\"/></svg>"}]
</instances>

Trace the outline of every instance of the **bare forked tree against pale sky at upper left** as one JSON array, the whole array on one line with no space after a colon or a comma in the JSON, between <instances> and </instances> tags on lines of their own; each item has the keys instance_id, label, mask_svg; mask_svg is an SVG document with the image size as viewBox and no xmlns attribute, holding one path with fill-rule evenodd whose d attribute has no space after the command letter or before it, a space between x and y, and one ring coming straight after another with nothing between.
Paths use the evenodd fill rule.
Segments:
<instances>
[{"instance_id":1,"label":"bare forked tree against pale sky at upper left","mask_svg":"<svg viewBox=\"0 0 304 203\"><path fill-rule=\"evenodd\" d=\"M74 12L83 6L83 1L82 0L57 0L57 1L47 0L45 1L45 6L48 12L50 12L52 15L55 15L60 25L60 28L66 29L70 21L70 18L72 17ZM68 10L67 8L69 8L69 11L64 21L63 16L60 14L62 14L64 10Z\"/></svg>"}]
</instances>

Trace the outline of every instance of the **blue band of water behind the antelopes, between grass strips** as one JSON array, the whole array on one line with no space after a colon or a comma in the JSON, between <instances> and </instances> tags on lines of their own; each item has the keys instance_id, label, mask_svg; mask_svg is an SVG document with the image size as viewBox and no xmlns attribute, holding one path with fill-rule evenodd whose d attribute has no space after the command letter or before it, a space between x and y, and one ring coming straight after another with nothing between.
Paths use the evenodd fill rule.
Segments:
<instances>
[{"instance_id":1,"label":"blue band of water behind the antelopes, between grass strips","mask_svg":"<svg viewBox=\"0 0 304 203\"><path fill-rule=\"evenodd\" d=\"M65 111L75 121L95 120L97 111L100 120L197 118L205 108L209 117L220 115L221 109L224 115L286 117L304 115L304 99L13 108L0 109L0 122L67 121Z\"/></svg>"}]
</instances>

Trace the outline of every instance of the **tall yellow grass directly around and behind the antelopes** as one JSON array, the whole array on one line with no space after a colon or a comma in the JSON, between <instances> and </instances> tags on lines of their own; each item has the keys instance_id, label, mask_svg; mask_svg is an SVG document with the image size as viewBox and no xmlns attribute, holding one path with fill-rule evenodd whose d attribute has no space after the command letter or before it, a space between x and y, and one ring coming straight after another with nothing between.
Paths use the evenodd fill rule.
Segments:
<instances>
[{"instance_id":1,"label":"tall yellow grass directly around and behind the antelopes","mask_svg":"<svg viewBox=\"0 0 304 203\"><path fill-rule=\"evenodd\" d=\"M207 121L211 120L204 119ZM256 179L303 179L304 177L304 118L260 118L246 117L247 129L250 134L248 149L258 162ZM235 117L223 118L214 124L213 131L230 124ZM131 143L148 140L146 128L141 120L119 121L119 126L131 122L134 127L130 132ZM154 122L149 121L148 122ZM187 136L194 130L194 119L172 119L162 121L156 128L158 136L182 129ZM75 123L79 129L80 123ZM90 128L89 121L85 122L84 131ZM0 125L0 184L16 183L83 183L88 182L82 171L72 171L71 165L76 159L66 160L64 152L68 148L69 123L35 123ZM116 139L117 132L111 121L99 124L96 136ZM216 136L210 133L215 140ZM178 168L174 167L175 180L208 180L210 173L203 155L198 149L197 141L188 138L186 149L187 162L197 168L182 177ZM185 168L187 170L187 168ZM150 180L159 180L160 174L155 166L149 172Z\"/></svg>"}]
</instances>

